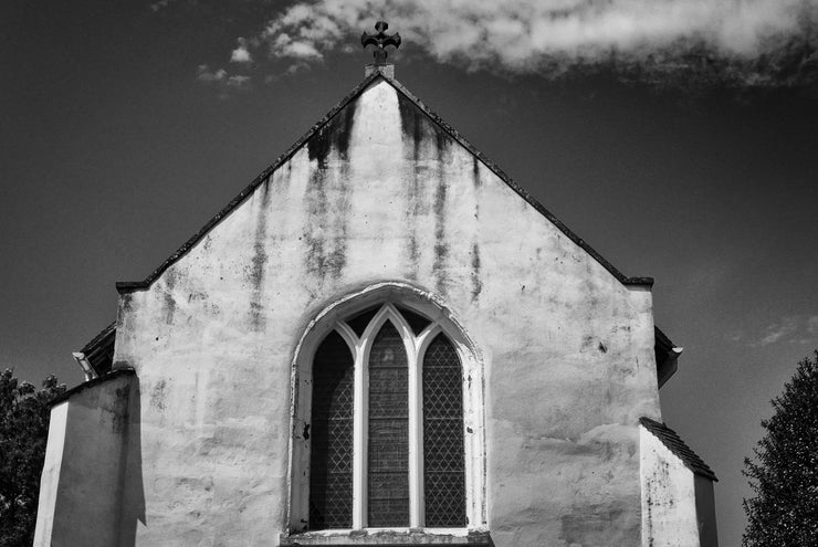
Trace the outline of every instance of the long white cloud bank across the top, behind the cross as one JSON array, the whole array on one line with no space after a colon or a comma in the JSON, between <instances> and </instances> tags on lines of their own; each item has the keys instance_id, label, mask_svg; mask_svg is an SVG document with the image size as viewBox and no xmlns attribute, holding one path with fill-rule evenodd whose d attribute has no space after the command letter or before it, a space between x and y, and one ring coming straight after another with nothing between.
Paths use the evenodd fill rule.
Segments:
<instances>
[{"instance_id":1,"label":"long white cloud bank across the top, behind the cross","mask_svg":"<svg viewBox=\"0 0 818 547\"><path fill-rule=\"evenodd\" d=\"M466 69L543 73L611 57L689 69L684 54L704 48L764 80L774 76L756 61L775 64L789 40L808 35L818 0L316 0L284 9L250 43L273 59L321 61L374 32L380 15L412 50Z\"/></svg>"}]
</instances>

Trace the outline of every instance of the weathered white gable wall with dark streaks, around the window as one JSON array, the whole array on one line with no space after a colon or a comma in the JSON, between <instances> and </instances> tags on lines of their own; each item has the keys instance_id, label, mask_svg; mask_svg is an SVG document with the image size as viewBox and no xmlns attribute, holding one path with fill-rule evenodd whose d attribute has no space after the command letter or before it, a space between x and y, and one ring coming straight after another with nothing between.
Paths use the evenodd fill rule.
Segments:
<instances>
[{"instance_id":1,"label":"weathered white gable wall with dark streaks, around the window","mask_svg":"<svg viewBox=\"0 0 818 547\"><path fill-rule=\"evenodd\" d=\"M384 81L122 295L114 366L141 393L137 544L285 530L295 346L321 309L386 281L437 295L474 340L495 545L640 545L638 419L660 413L649 290Z\"/></svg>"}]
</instances>

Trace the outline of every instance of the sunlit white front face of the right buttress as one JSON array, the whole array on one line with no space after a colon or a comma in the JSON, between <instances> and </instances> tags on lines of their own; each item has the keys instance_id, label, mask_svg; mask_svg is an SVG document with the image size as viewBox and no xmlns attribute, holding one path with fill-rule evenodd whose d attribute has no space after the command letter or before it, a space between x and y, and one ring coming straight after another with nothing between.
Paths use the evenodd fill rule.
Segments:
<instances>
[{"instance_id":1,"label":"sunlit white front face of the right buttress","mask_svg":"<svg viewBox=\"0 0 818 547\"><path fill-rule=\"evenodd\" d=\"M642 425L639 439L642 547L699 547L694 473Z\"/></svg>"}]
</instances>

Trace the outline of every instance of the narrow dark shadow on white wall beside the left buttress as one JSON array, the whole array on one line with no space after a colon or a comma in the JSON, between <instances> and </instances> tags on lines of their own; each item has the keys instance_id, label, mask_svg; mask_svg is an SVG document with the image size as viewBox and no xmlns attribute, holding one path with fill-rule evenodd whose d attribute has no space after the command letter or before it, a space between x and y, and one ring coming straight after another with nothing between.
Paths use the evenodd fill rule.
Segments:
<instances>
[{"instance_id":1,"label":"narrow dark shadow on white wall beside the left buttress","mask_svg":"<svg viewBox=\"0 0 818 547\"><path fill-rule=\"evenodd\" d=\"M119 492L119 545L136 545L138 523L147 525L145 518L145 488L141 476L141 391L139 378L134 375L128 390L128 427L123 443L122 486Z\"/></svg>"}]
</instances>

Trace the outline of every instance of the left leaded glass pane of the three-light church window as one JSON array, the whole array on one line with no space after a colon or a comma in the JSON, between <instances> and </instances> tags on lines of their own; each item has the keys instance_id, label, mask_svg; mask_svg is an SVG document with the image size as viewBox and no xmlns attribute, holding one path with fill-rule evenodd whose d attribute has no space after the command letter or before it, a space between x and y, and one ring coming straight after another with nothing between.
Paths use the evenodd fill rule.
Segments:
<instances>
[{"instance_id":1,"label":"left leaded glass pane of the three-light church window","mask_svg":"<svg viewBox=\"0 0 818 547\"><path fill-rule=\"evenodd\" d=\"M354 359L336 332L321 343L313 362L310 429L310 528L353 526Z\"/></svg>"}]
</instances>

